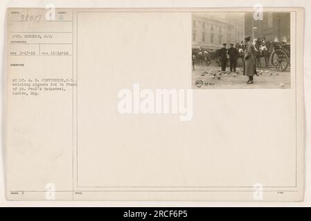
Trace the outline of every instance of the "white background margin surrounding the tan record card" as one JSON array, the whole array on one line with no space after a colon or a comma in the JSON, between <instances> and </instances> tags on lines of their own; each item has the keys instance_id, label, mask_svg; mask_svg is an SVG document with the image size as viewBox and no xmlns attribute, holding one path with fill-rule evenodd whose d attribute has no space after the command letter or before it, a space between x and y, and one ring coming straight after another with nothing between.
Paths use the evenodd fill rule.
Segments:
<instances>
[{"instance_id":1,"label":"white background margin surrounding the tan record card","mask_svg":"<svg viewBox=\"0 0 311 221\"><path fill-rule=\"evenodd\" d=\"M310 10L311 2L305 1L286 1L286 0L274 0L274 1L135 1L135 0L114 0L114 1L82 1L82 0L59 0L59 1L39 1L39 0L27 0L27 1L0 1L0 17L1 17L1 29L3 30L0 35L0 41L3 43L1 48L1 98L2 108L1 113L1 138L3 136L3 109L5 108L5 82L6 76L4 73L3 64L5 64L5 52L4 45L6 39L4 39L4 33L6 30L6 8L18 7L18 8L44 8L46 4L53 3L57 8L201 8L201 7L248 7L252 8L254 4L261 3L264 7L303 7L305 8L305 36L310 36ZM307 39L306 39L307 40ZM310 79L310 41L305 41L305 114L306 114L306 135L309 133L310 126L310 103L311 103L311 79ZM2 139L1 139L2 140ZM3 140L1 142L1 156L0 156L0 206L311 206L311 159L310 159L310 136L306 137L306 149L305 149L305 202L296 203L256 203L256 202L8 202L4 196L4 174L3 174Z\"/></svg>"}]
</instances>

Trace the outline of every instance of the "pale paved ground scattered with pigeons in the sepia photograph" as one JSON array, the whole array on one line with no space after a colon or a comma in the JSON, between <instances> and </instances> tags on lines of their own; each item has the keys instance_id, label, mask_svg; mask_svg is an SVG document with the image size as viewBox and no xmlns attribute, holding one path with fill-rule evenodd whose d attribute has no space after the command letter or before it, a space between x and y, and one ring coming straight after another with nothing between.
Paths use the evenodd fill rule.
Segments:
<instances>
[{"instance_id":1,"label":"pale paved ground scattered with pigeons in the sepia photograph","mask_svg":"<svg viewBox=\"0 0 311 221\"><path fill-rule=\"evenodd\" d=\"M192 76L192 88L213 89L213 88L290 88L290 70L279 72L274 68L257 68L258 77L254 76L254 84L245 84L247 76L243 76L242 67L238 67L236 77L233 73L222 74L218 66L195 66ZM226 70L230 70L226 68ZM262 70L262 71L261 71ZM204 71L207 74L203 74ZM216 73L214 77L213 74ZM197 84L195 84L197 82Z\"/></svg>"}]
</instances>

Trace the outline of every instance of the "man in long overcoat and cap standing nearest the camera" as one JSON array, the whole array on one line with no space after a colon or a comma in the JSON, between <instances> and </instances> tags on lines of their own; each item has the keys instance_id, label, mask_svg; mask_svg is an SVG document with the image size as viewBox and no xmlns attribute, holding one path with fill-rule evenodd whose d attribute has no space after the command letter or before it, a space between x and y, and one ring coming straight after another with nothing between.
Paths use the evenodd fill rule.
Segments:
<instances>
[{"instance_id":1,"label":"man in long overcoat and cap standing nearest the camera","mask_svg":"<svg viewBox=\"0 0 311 221\"><path fill-rule=\"evenodd\" d=\"M244 70L243 75L247 75L249 80L246 84L254 84L254 73L255 73L255 48L254 45L251 44L251 37L245 37L245 52L244 52Z\"/></svg>"}]
</instances>

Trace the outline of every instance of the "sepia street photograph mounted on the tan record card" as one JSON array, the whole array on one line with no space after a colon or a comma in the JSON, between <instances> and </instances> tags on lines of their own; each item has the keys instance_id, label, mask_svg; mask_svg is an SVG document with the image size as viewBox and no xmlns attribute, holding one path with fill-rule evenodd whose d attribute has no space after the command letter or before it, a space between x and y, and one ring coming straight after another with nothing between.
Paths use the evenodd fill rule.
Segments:
<instances>
[{"instance_id":1,"label":"sepia street photograph mounted on the tan record card","mask_svg":"<svg viewBox=\"0 0 311 221\"><path fill-rule=\"evenodd\" d=\"M290 88L290 12L193 12L192 88Z\"/></svg>"}]
</instances>

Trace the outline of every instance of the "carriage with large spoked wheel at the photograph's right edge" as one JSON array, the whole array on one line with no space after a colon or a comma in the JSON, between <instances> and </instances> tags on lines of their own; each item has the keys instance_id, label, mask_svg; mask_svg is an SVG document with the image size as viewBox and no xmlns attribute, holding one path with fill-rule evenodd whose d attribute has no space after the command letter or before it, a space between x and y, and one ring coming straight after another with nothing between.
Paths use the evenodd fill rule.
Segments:
<instances>
[{"instance_id":1,"label":"carriage with large spoked wheel at the photograph's right edge","mask_svg":"<svg viewBox=\"0 0 311 221\"><path fill-rule=\"evenodd\" d=\"M285 71L290 66L290 44L273 42L274 52L271 61L274 68Z\"/></svg>"}]
</instances>

